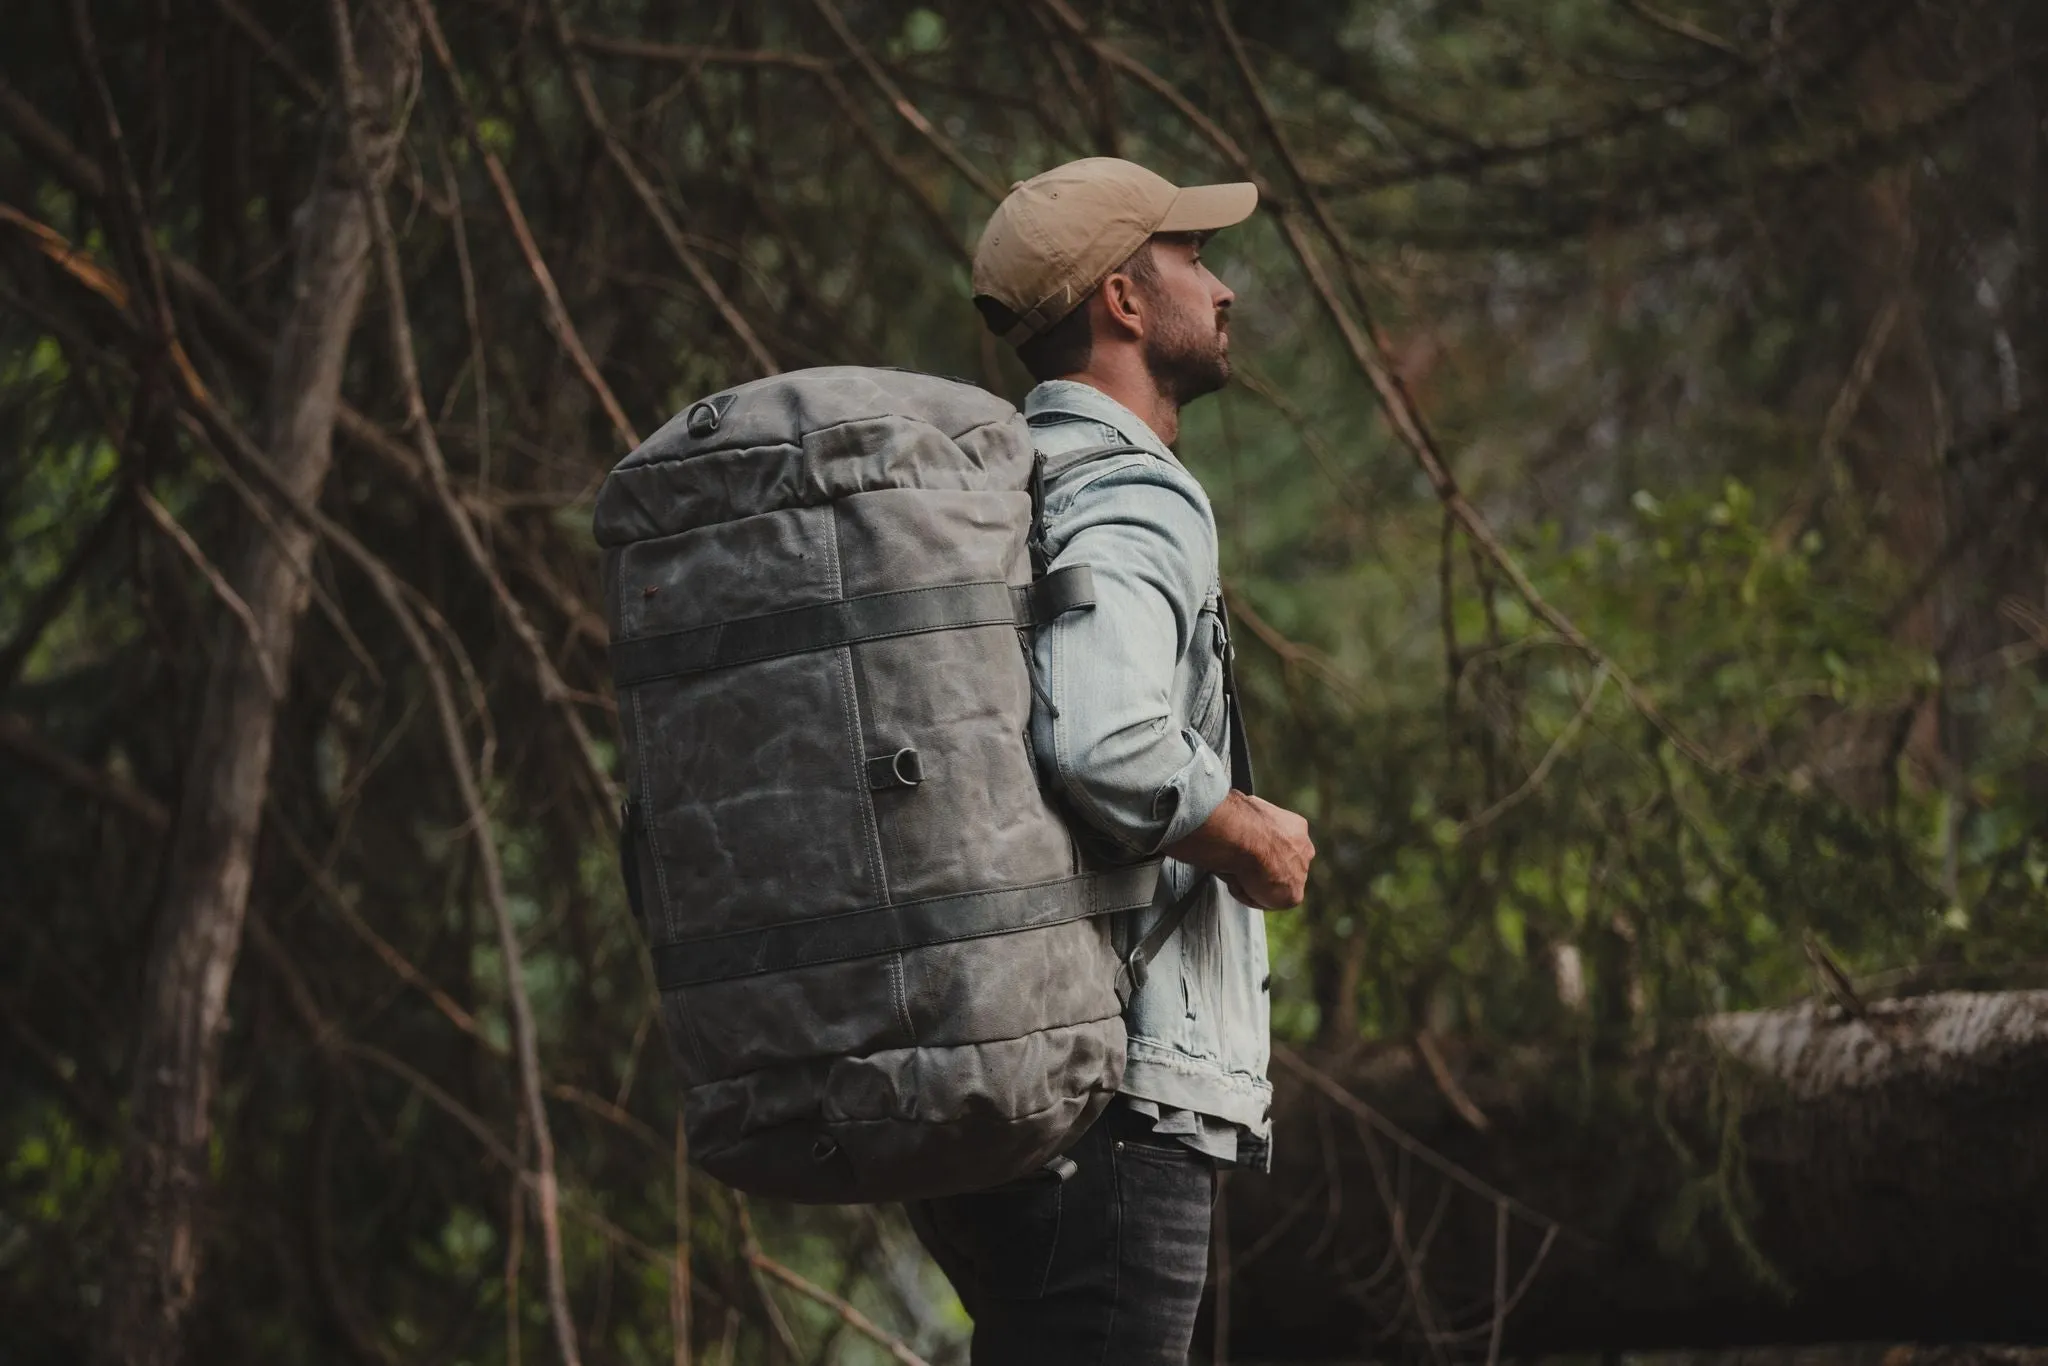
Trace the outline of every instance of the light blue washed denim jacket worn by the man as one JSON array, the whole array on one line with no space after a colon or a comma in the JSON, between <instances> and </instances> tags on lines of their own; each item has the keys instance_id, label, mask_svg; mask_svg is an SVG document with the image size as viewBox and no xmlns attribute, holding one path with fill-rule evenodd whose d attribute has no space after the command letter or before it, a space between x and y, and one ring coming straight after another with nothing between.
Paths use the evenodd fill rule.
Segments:
<instances>
[{"instance_id":1,"label":"light blue washed denim jacket worn by the man","mask_svg":"<svg viewBox=\"0 0 2048 1366\"><path fill-rule=\"evenodd\" d=\"M1202 825L1231 788L1217 518L1165 442L1100 389L1042 383L1024 416L1049 469L1053 567L1085 563L1096 578L1092 612L1038 631L1032 666L1051 702L1032 709L1038 770L1126 856L1155 854ZM1110 444L1143 455L1061 459ZM1159 897L1122 942L1143 936L1196 877L1165 860ZM1266 1167L1266 920L1206 883L1124 1014L1122 1090L1157 1116L1159 1133Z\"/></svg>"}]
</instances>

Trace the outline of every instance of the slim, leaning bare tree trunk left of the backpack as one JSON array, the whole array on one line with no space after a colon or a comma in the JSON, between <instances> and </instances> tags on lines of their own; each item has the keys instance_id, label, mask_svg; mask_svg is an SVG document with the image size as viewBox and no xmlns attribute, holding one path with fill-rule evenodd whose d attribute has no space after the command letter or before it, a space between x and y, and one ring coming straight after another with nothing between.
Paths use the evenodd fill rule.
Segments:
<instances>
[{"instance_id":1,"label":"slim, leaning bare tree trunk left of the backpack","mask_svg":"<svg viewBox=\"0 0 2048 1366\"><path fill-rule=\"evenodd\" d=\"M295 223L291 297L264 397L268 457L307 502L317 502L332 465L342 362L369 279L362 195L383 193L391 176L406 96L418 76L410 6L375 0L358 27L362 121L375 129L371 164L350 164L342 115L330 113L322 164ZM115 1204L123 1253L109 1270L98 1341L106 1362L174 1362L197 1298L227 983L242 948L283 700L268 678L289 678L311 551L313 532L299 522L279 518L272 528L250 520L233 588L254 625L219 614L135 1024L133 1124Z\"/></svg>"}]
</instances>

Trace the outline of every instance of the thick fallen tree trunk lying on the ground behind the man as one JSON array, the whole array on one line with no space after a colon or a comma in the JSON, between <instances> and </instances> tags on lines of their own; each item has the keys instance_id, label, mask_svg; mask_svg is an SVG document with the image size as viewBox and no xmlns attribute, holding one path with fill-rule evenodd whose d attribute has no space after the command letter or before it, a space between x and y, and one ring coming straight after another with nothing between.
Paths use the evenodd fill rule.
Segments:
<instances>
[{"instance_id":1,"label":"thick fallen tree trunk lying on the ground behind the man","mask_svg":"<svg viewBox=\"0 0 2048 1366\"><path fill-rule=\"evenodd\" d=\"M1229 1182L1233 1356L2048 1343L2048 991L1450 1071L1485 1130L1405 1047L1278 1059L1274 1176Z\"/></svg>"}]
</instances>

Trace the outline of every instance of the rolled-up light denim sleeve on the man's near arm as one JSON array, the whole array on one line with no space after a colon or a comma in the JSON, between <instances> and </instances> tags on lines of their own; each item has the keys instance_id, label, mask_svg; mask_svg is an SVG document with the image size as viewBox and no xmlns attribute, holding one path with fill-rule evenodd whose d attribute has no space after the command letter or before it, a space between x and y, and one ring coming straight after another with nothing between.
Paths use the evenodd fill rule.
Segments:
<instances>
[{"instance_id":1,"label":"rolled-up light denim sleeve on the man's near arm","mask_svg":"<svg viewBox=\"0 0 2048 1366\"><path fill-rule=\"evenodd\" d=\"M1055 569L1094 569L1096 606L1038 633L1053 702L1034 727L1038 762L1090 825L1153 854L1202 825L1231 788L1229 764L1174 709L1180 661L1206 647L1214 524L1198 492L1128 463L1057 500L1051 539Z\"/></svg>"}]
</instances>

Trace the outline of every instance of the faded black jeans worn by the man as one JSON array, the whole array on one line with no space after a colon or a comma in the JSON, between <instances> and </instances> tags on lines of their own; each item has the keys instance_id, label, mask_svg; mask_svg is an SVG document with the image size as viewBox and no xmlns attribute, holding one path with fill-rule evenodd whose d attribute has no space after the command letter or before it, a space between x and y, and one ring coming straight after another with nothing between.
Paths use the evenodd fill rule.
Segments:
<instances>
[{"instance_id":1,"label":"faded black jeans worn by the man","mask_svg":"<svg viewBox=\"0 0 2048 1366\"><path fill-rule=\"evenodd\" d=\"M909 1206L975 1319L973 1366L1182 1366L1208 1276L1217 1167L1122 1100L1040 1171Z\"/></svg>"}]
</instances>

